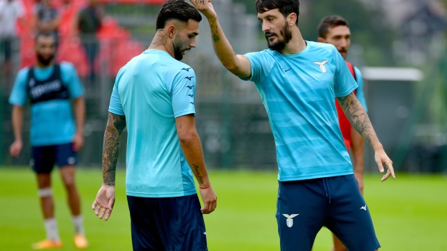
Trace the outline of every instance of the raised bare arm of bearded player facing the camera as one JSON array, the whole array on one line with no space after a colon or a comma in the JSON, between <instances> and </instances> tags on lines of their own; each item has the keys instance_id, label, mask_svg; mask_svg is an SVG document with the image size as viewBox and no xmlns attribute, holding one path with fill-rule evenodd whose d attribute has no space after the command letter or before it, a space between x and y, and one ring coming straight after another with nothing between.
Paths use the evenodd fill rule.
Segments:
<instances>
[{"instance_id":1,"label":"raised bare arm of bearded player facing the camera","mask_svg":"<svg viewBox=\"0 0 447 251\"><path fill-rule=\"evenodd\" d=\"M228 39L223 33L222 27L217 20L217 14L210 0L190 0L196 8L205 15L210 24L212 45L217 57L231 73L237 77L251 77L250 61L246 56L235 54Z\"/></svg>"}]
</instances>

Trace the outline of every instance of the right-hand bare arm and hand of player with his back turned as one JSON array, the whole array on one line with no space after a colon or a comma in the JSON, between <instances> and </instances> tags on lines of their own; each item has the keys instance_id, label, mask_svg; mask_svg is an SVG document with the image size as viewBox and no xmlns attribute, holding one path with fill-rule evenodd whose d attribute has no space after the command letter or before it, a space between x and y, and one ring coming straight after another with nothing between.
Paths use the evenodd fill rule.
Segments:
<instances>
[{"instance_id":1,"label":"right-hand bare arm and hand of player with his back turned","mask_svg":"<svg viewBox=\"0 0 447 251\"><path fill-rule=\"evenodd\" d=\"M196 176L200 187L200 197L203 200L203 208L200 208L200 211L205 214L212 213L217 206L217 196L212 189L210 178L208 178L202 144L196 130L195 117L192 114L179 116L175 119L175 124L184 158L186 158L186 162Z\"/></svg>"}]
</instances>

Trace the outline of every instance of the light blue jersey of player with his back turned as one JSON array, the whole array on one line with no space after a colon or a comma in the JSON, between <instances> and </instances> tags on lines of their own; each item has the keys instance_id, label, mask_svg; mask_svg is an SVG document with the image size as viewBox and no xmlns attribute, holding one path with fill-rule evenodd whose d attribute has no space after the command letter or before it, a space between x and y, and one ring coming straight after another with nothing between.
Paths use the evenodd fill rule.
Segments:
<instances>
[{"instance_id":1,"label":"light blue jersey of player with his back turned","mask_svg":"<svg viewBox=\"0 0 447 251\"><path fill-rule=\"evenodd\" d=\"M196 114L196 74L168 52L146 50L117 75L109 112L126 116L126 194L193 195L196 187L175 118Z\"/></svg>"}]
</instances>

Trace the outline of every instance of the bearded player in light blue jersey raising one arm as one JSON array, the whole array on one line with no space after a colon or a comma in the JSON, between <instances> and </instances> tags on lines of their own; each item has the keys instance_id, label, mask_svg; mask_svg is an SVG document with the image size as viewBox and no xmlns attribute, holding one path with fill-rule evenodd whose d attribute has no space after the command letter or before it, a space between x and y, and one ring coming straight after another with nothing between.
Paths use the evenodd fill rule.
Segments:
<instances>
[{"instance_id":1,"label":"bearded player in light blue jersey raising one arm","mask_svg":"<svg viewBox=\"0 0 447 251\"><path fill-rule=\"evenodd\" d=\"M210 0L191 1L210 23L214 51L223 66L255 83L268 112L279 167L276 217L281 250L311 250L323 226L349 250L377 250L372 219L338 125L336 97L351 124L372 145L380 172L388 169L381 180L395 174L353 94L358 84L337 49L303 40L298 0L257 0L269 49L237 55Z\"/></svg>"}]
</instances>

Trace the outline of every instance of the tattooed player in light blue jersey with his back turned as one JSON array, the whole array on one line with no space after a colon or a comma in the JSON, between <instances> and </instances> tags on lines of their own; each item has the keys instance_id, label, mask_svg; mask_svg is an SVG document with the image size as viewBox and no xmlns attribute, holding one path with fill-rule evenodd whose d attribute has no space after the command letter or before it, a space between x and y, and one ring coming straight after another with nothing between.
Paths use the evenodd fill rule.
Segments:
<instances>
[{"instance_id":1,"label":"tattooed player in light blue jersey with his back turned","mask_svg":"<svg viewBox=\"0 0 447 251\"><path fill-rule=\"evenodd\" d=\"M103 144L103 185L92 205L108 220L115 203L120 135L127 126L126 195L133 250L208 250L204 213L217 206L194 116L196 74L180 62L196 47L200 13L168 0L148 50L117 75ZM200 187L200 208L196 187Z\"/></svg>"}]
</instances>

